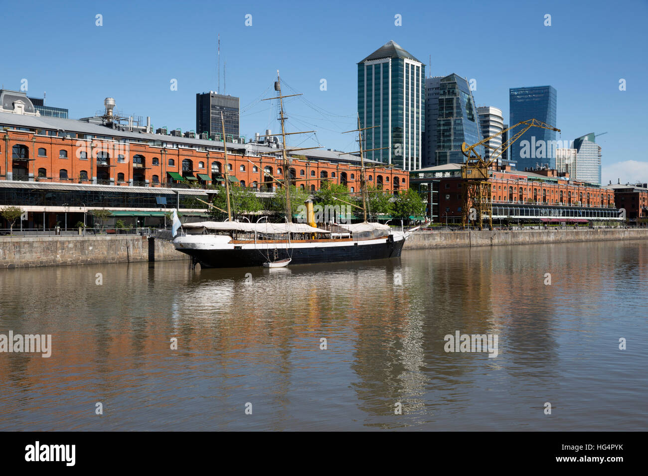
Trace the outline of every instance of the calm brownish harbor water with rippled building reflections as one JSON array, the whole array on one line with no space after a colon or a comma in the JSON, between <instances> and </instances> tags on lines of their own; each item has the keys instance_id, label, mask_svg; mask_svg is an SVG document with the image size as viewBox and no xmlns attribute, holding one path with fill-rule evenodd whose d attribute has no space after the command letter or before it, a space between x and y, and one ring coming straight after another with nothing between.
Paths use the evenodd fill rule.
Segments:
<instances>
[{"instance_id":1,"label":"calm brownish harbor water with rippled building reflections","mask_svg":"<svg viewBox=\"0 0 648 476\"><path fill-rule=\"evenodd\" d=\"M0 354L0 430L646 430L647 295L643 241L1 270L0 334L52 356Z\"/></svg>"}]
</instances>

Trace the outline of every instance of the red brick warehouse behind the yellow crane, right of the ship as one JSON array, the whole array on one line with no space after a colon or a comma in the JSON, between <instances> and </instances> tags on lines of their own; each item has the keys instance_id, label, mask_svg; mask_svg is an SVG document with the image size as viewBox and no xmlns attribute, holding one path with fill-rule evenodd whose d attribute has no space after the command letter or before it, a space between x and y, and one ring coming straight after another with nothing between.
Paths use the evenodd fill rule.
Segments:
<instances>
[{"instance_id":1,"label":"red brick warehouse behind the yellow crane, right of the ship","mask_svg":"<svg viewBox=\"0 0 648 476\"><path fill-rule=\"evenodd\" d=\"M415 170L411 184L432 187L438 203L435 221L461 223L463 183L460 164L446 164ZM571 181L555 170L532 172L502 166L491 172L493 220L526 222L566 221L585 223L618 217L614 192L596 184ZM435 195L435 196L434 196Z\"/></svg>"}]
</instances>

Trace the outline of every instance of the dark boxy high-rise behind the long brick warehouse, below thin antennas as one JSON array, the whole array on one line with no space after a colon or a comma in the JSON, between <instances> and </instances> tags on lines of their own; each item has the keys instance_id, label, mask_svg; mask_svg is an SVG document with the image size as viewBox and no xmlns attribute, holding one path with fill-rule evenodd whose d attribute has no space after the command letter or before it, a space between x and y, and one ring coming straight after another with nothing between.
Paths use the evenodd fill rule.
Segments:
<instances>
[{"instance_id":1,"label":"dark boxy high-rise behind the long brick warehouse, below thin antennas","mask_svg":"<svg viewBox=\"0 0 648 476\"><path fill-rule=\"evenodd\" d=\"M220 113L225 120L223 134ZM225 135L227 142L238 139L240 134L239 99L209 91L196 94L196 133L209 133L209 137L217 136L222 139Z\"/></svg>"}]
</instances>

